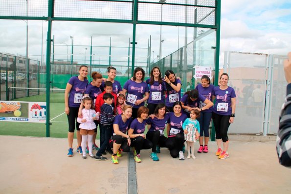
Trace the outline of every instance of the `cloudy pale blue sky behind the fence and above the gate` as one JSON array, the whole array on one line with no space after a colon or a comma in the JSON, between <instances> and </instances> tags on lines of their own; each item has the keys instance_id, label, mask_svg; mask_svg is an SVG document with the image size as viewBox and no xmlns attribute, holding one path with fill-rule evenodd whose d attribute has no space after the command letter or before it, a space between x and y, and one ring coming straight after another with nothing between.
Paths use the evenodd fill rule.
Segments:
<instances>
[{"instance_id":1,"label":"cloudy pale blue sky behind the fence and above the gate","mask_svg":"<svg viewBox=\"0 0 291 194\"><path fill-rule=\"evenodd\" d=\"M159 8L158 8L159 10ZM164 14L171 10L164 8ZM163 15L164 15L163 14ZM169 13L170 14L170 13ZM224 51L241 51L286 55L291 51L291 1L290 0L222 0L221 10L220 63L223 64ZM157 15L156 17L159 17ZM41 59L42 24L43 52L47 22L29 21L29 56ZM0 52L25 55L26 23L24 21L0 20ZM158 25L137 25L137 60L145 60L144 53L151 36L151 61L159 54ZM55 59L65 59L70 54L70 36L74 36L75 59L83 61L90 57L90 41L93 37L92 54L94 60L107 60L110 37L115 58L126 60L129 38L132 37L132 25L101 22L53 22L52 34L55 35ZM131 38L132 39L132 38ZM193 29L188 28L188 43L193 39ZM162 27L162 57L176 51L184 45L184 27ZM214 46L214 45L213 45ZM86 50L86 48L88 48ZM68 55L67 55L68 53ZM86 54L85 54L86 53ZM126 53L126 54L124 54ZM120 56L117 56L120 54ZM151 52L152 54L152 52ZM112 56L114 58L114 56ZM99 58L99 59L98 59ZM86 60L86 59L85 59Z\"/></svg>"}]
</instances>

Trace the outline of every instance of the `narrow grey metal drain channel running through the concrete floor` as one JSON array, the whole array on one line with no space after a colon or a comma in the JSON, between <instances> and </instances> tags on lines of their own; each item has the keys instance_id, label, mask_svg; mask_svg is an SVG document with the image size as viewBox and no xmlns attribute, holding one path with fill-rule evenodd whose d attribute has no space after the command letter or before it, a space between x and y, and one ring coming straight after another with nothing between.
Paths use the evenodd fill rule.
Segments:
<instances>
[{"instance_id":1,"label":"narrow grey metal drain channel running through the concrete floor","mask_svg":"<svg viewBox=\"0 0 291 194\"><path fill-rule=\"evenodd\" d=\"M132 149L128 153L127 194L137 194L136 166Z\"/></svg>"}]
</instances>

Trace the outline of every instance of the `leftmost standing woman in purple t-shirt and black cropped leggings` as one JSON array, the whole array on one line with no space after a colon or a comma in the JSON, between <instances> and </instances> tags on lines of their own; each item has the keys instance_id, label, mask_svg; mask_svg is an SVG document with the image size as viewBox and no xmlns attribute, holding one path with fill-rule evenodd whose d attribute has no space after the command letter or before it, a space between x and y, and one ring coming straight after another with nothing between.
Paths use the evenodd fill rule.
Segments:
<instances>
[{"instance_id":1,"label":"leftmost standing woman in purple t-shirt and black cropped leggings","mask_svg":"<svg viewBox=\"0 0 291 194\"><path fill-rule=\"evenodd\" d=\"M79 128L80 123L76 123L76 119L78 117L79 107L82 102L86 86L88 85L87 75L88 67L86 65L81 65L79 68L79 75L69 79L65 90L65 112L68 120L67 140L69 146L67 156L73 156L75 126L77 128L77 152L80 154L83 153L81 147L82 136L80 135Z\"/></svg>"}]
</instances>

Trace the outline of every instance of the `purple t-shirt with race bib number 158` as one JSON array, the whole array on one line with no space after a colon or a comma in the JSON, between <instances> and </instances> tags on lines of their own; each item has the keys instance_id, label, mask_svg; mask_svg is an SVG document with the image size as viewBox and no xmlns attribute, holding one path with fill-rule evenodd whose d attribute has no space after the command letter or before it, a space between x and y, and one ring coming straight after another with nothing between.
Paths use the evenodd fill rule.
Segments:
<instances>
[{"instance_id":1,"label":"purple t-shirt with race bib number 158","mask_svg":"<svg viewBox=\"0 0 291 194\"><path fill-rule=\"evenodd\" d=\"M181 80L176 79L176 81L172 84L177 86L177 84L181 84ZM179 92L177 92L175 89L173 89L173 87L169 86L166 82L164 82L164 86L166 88L166 106L173 107L174 103L176 101L180 101L180 99L181 99L181 90L179 90ZM178 99L177 99L177 97L178 97Z\"/></svg>"}]
</instances>

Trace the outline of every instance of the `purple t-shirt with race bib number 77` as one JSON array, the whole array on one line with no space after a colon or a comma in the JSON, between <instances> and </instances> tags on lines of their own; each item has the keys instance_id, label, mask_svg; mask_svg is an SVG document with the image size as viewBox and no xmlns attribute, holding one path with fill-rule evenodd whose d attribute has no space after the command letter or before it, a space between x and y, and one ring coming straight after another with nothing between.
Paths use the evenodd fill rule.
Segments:
<instances>
[{"instance_id":1,"label":"purple t-shirt with race bib number 77","mask_svg":"<svg viewBox=\"0 0 291 194\"><path fill-rule=\"evenodd\" d=\"M151 79L147 79L146 83L149 84L150 80ZM166 91L166 87L163 82L160 84L158 81L154 81L153 85L149 85L150 96L148 103L159 104L165 102L164 91Z\"/></svg>"}]
</instances>

